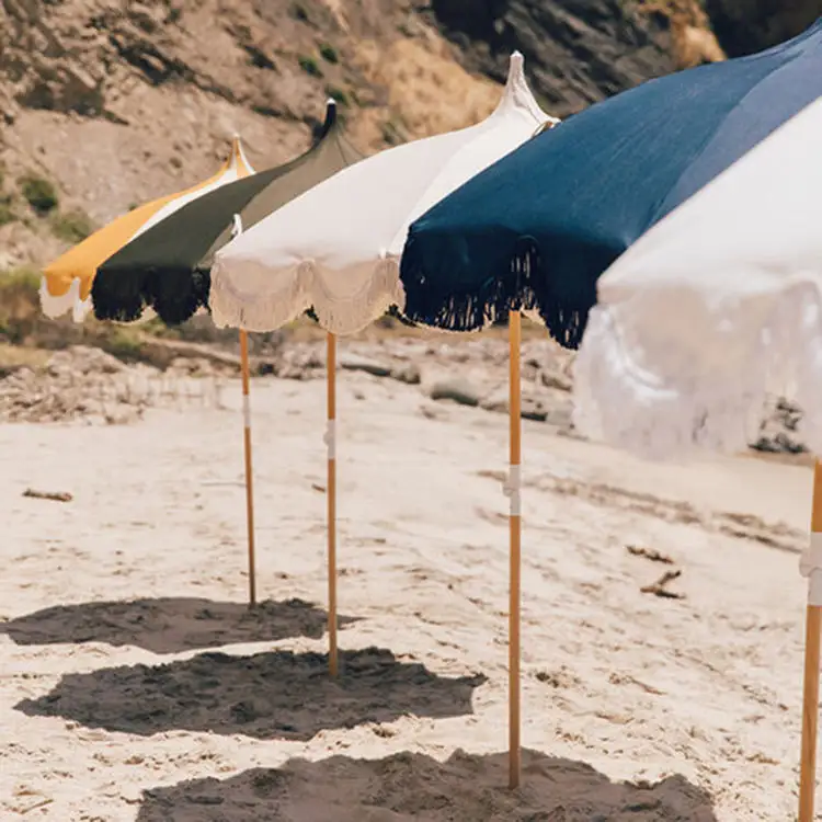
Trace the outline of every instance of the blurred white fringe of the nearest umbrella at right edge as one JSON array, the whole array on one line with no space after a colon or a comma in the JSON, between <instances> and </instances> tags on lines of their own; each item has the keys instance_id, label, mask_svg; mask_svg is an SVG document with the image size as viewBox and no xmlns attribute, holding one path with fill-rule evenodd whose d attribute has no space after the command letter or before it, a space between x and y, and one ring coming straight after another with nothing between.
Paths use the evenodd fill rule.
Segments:
<instances>
[{"instance_id":1,"label":"blurred white fringe of the nearest umbrella at right edge","mask_svg":"<svg viewBox=\"0 0 822 822\"><path fill-rule=\"evenodd\" d=\"M822 454L822 323L812 308L809 315L807 294L803 305L786 295L780 300L747 368L729 367L711 383L673 364L664 374L644 370L642 352L620 334L618 307L594 308L574 362L574 425L648 459L740 453L755 442L768 399L794 395L803 412L802 441ZM661 352L654 355L659 362Z\"/></svg>"}]
</instances>

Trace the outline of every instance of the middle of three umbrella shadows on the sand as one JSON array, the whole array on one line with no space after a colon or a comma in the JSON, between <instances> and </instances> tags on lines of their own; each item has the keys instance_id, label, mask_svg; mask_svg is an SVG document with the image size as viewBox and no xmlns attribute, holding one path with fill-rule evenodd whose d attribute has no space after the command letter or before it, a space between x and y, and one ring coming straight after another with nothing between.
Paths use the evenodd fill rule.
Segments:
<instances>
[{"instance_id":1,"label":"middle of three umbrella shadows on the sand","mask_svg":"<svg viewBox=\"0 0 822 822\"><path fill-rule=\"evenodd\" d=\"M144 737L187 730L308 741L322 730L409 713L471 713L473 690L484 682L482 675L438 676L378 648L341 651L336 677L327 654L208 652L164 665L67 674L50 693L15 708Z\"/></svg>"}]
</instances>

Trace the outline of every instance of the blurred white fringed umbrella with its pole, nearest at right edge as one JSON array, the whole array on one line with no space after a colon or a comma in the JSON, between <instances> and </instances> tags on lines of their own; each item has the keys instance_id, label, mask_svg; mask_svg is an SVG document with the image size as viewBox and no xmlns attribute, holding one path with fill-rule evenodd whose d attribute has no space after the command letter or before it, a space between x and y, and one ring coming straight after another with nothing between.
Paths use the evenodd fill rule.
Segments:
<instances>
[{"instance_id":1,"label":"blurred white fringed umbrella with its pole, nearest at right edge","mask_svg":"<svg viewBox=\"0 0 822 822\"><path fill-rule=\"evenodd\" d=\"M749 442L769 393L795 397L822 456L822 99L608 269L575 362L583 433L651 457ZM813 819L822 617L822 464L808 579L800 822Z\"/></svg>"}]
</instances>

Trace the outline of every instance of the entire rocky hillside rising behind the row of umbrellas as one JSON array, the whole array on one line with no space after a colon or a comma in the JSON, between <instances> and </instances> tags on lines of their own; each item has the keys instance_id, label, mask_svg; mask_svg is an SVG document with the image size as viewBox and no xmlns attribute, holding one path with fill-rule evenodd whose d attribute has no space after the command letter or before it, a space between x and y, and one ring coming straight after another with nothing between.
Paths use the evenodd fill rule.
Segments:
<instances>
[{"instance_id":1,"label":"entire rocky hillside rising behind the row of umbrellas","mask_svg":"<svg viewBox=\"0 0 822 822\"><path fill-rule=\"evenodd\" d=\"M41 263L133 204L213 173L235 132L258 168L293 157L328 95L354 141L375 150L488 114L520 48L536 93L562 116L792 34L812 5L0 0L0 270Z\"/></svg>"}]
</instances>

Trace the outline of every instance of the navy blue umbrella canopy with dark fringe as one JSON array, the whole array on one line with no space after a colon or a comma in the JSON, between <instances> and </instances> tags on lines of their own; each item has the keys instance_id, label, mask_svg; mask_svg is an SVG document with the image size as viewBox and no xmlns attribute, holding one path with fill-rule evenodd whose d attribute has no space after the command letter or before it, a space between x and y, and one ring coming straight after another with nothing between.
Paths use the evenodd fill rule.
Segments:
<instances>
[{"instance_id":1,"label":"navy blue umbrella canopy with dark fringe","mask_svg":"<svg viewBox=\"0 0 822 822\"><path fill-rule=\"evenodd\" d=\"M564 121L411 226L406 315L454 330L538 309L568 347L644 231L822 94L822 21L762 54L646 82Z\"/></svg>"}]
</instances>

